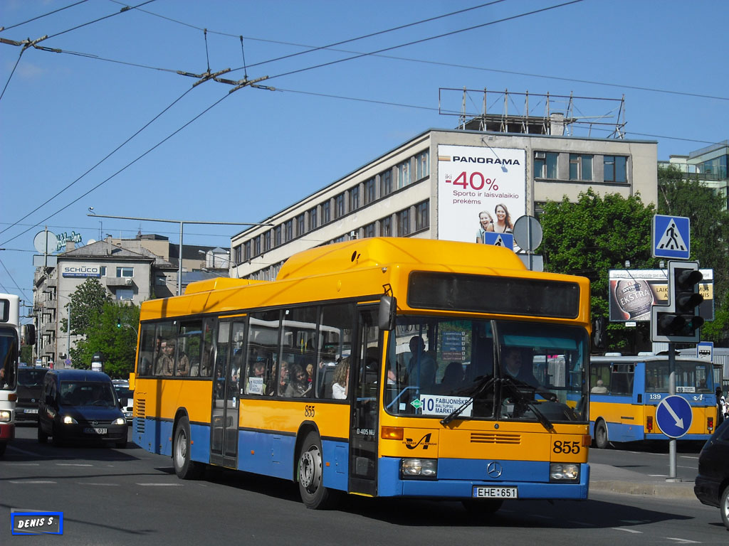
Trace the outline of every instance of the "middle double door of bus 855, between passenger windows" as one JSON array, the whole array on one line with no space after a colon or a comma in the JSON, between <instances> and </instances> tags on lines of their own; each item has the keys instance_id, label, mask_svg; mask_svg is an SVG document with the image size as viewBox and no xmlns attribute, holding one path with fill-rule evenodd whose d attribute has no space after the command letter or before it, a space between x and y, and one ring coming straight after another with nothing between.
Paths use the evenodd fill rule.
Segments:
<instances>
[{"instance_id":1,"label":"middle double door of bus 855, between passenger windows","mask_svg":"<svg viewBox=\"0 0 729 546\"><path fill-rule=\"evenodd\" d=\"M246 322L242 318L219 322L210 415L210 462L229 468L238 465L238 398L245 331Z\"/></svg>"}]
</instances>

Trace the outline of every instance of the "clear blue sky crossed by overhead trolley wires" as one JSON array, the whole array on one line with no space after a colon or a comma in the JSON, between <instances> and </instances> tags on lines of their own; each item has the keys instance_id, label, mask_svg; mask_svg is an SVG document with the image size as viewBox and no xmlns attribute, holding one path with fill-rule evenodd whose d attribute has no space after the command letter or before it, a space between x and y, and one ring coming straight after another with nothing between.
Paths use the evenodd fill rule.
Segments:
<instances>
[{"instance_id":1,"label":"clear blue sky crossed by overhead trolley wires","mask_svg":"<svg viewBox=\"0 0 729 546\"><path fill-rule=\"evenodd\" d=\"M125 12L77 1L0 0L0 38L47 35L38 45L63 51L0 44L0 291L28 303L44 226L83 242L140 228L178 242L175 224L87 209L263 221L428 128L455 127L440 88L625 95L626 137L658 141L658 159L729 138L726 1L138 0ZM276 90L229 94L176 74L208 66ZM227 248L240 229L187 226L184 242Z\"/></svg>"}]
</instances>

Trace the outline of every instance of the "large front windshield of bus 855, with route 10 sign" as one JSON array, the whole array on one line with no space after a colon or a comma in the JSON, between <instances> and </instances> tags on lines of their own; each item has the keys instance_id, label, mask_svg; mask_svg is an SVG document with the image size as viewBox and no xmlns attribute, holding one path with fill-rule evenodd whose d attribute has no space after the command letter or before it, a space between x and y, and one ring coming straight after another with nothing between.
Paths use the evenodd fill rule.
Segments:
<instances>
[{"instance_id":1,"label":"large front windshield of bus 855, with route 10 sign","mask_svg":"<svg viewBox=\"0 0 729 546\"><path fill-rule=\"evenodd\" d=\"M385 406L433 418L585 422L588 336L543 323L397 317Z\"/></svg>"}]
</instances>

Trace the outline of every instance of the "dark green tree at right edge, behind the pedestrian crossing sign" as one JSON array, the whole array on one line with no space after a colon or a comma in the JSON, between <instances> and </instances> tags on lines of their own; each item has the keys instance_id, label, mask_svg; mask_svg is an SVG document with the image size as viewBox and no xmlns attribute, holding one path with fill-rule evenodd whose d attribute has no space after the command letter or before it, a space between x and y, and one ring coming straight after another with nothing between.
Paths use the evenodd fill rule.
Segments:
<instances>
[{"instance_id":1,"label":"dark green tree at right edge, behind the pedestrian crossing sign","mask_svg":"<svg viewBox=\"0 0 729 546\"><path fill-rule=\"evenodd\" d=\"M698 176L685 179L677 167L658 167L658 213L689 218L691 256L702 269L714 270L714 320L701 338L729 345L729 211L725 198L703 186Z\"/></svg>"}]
</instances>

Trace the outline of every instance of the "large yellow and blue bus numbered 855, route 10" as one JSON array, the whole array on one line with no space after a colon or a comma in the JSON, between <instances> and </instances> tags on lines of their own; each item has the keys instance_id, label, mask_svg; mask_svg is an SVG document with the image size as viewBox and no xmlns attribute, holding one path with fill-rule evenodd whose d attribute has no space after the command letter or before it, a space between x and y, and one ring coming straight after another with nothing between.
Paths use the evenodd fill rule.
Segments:
<instances>
[{"instance_id":1,"label":"large yellow and blue bus numbered 855, route 10","mask_svg":"<svg viewBox=\"0 0 729 546\"><path fill-rule=\"evenodd\" d=\"M133 435L206 465L340 493L587 499L590 289L511 250L371 238L141 305Z\"/></svg>"}]
</instances>

